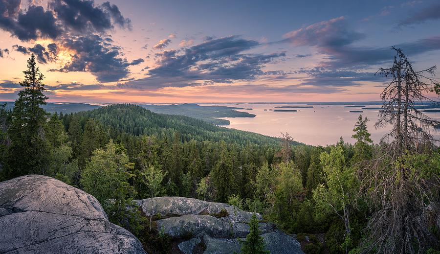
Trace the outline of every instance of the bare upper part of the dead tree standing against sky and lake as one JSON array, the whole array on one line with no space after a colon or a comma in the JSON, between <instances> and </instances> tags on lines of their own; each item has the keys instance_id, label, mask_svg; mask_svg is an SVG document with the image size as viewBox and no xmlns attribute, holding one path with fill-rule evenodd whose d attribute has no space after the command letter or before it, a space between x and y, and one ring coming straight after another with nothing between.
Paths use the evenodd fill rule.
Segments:
<instances>
[{"instance_id":1,"label":"bare upper part of the dead tree standing against sky and lake","mask_svg":"<svg viewBox=\"0 0 440 254\"><path fill-rule=\"evenodd\" d=\"M433 138L430 129L440 122L430 119L423 109L428 104L440 106L440 103L429 97L438 87L438 82L432 78L437 67L415 71L401 49L392 49L396 51L393 66L377 71L377 74L393 79L381 93L383 105L375 127L393 126L384 139L391 138L394 157L398 157L426 141L439 141Z\"/></svg>"}]
</instances>

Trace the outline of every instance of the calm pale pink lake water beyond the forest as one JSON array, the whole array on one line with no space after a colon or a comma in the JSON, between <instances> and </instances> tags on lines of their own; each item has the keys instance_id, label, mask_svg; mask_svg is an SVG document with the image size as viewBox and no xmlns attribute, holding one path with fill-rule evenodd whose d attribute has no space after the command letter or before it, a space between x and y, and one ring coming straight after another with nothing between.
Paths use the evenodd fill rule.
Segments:
<instances>
[{"instance_id":1,"label":"calm pale pink lake water beyond the forest","mask_svg":"<svg viewBox=\"0 0 440 254\"><path fill-rule=\"evenodd\" d=\"M358 108L344 108L334 105L288 105L288 104L211 104L252 108L252 110L239 110L257 115L256 117L226 117L231 124L227 128L256 132L264 135L279 137L280 133L288 132L293 139L311 145L334 144L342 136L346 142L354 143L352 139L353 126L359 114L367 116L368 130L375 143L383 137L388 128L374 129L378 110L361 110ZM292 108L298 112L273 112L279 106L313 106L313 108ZM380 107L368 105L367 107ZM283 109L283 108L281 108ZM289 108L284 108L289 109ZM267 110L267 111L264 111ZM363 113L349 111L360 110ZM432 118L440 119L440 113L426 113ZM433 129L432 134L440 137L440 132Z\"/></svg>"}]
</instances>

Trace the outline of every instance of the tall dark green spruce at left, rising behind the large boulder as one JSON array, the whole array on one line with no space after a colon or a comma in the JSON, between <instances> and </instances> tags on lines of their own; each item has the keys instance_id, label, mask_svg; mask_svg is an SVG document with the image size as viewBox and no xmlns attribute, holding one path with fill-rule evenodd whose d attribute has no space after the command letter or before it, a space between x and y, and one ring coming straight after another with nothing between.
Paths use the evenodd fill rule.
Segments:
<instances>
[{"instance_id":1,"label":"tall dark green spruce at left, rising behind the large boulder","mask_svg":"<svg viewBox=\"0 0 440 254\"><path fill-rule=\"evenodd\" d=\"M44 95L44 76L34 54L23 73L24 80L20 82L23 89L15 101L9 130L12 141L8 152L9 178L30 173L46 174L48 167L48 147L44 138L46 113L41 108L47 97Z\"/></svg>"}]
</instances>

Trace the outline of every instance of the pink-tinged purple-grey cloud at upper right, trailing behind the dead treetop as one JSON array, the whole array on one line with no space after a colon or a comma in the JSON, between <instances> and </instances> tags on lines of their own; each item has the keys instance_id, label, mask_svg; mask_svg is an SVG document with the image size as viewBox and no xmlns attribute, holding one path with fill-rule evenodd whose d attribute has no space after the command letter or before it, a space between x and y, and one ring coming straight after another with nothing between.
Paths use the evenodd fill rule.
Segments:
<instances>
[{"instance_id":1,"label":"pink-tinged purple-grey cloud at upper right, trailing behind the dead treetop","mask_svg":"<svg viewBox=\"0 0 440 254\"><path fill-rule=\"evenodd\" d=\"M364 38L350 28L344 17L309 25L284 35L279 42L288 42L294 46L313 46L319 53L327 55L320 66L327 69L365 68L391 61L394 52L387 47L358 47L354 42ZM272 43L273 44L273 43ZM421 39L410 43L395 45L406 53L415 55L440 49L440 37Z\"/></svg>"}]
</instances>

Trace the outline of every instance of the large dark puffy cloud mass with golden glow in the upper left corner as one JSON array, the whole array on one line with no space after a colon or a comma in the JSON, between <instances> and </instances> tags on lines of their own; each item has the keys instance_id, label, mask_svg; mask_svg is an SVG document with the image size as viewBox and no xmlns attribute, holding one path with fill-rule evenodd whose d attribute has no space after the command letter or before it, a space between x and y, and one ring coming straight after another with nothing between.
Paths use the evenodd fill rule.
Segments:
<instances>
[{"instance_id":1,"label":"large dark puffy cloud mass with golden glow in the upper left corner","mask_svg":"<svg viewBox=\"0 0 440 254\"><path fill-rule=\"evenodd\" d=\"M93 0L49 0L47 8L32 2L22 10L20 0L0 0L0 28L22 41L52 39L53 43L32 47L16 45L23 54L35 53L40 63L56 62L60 50L71 56L71 61L58 71L89 71L98 81L110 82L127 77L131 65L119 46L105 36L115 25L131 27L130 19L122 16L119 8Z\"/></svg>"}]
</instances>

